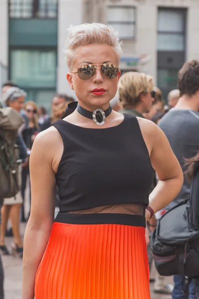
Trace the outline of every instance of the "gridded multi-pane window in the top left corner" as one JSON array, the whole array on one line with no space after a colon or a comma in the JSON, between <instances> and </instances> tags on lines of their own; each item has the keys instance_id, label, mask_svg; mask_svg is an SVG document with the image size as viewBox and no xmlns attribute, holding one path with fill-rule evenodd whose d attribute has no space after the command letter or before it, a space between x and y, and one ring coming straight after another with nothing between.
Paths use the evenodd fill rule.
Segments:
<instances>
[{"instance_id":1,"label":"gridded multi-pane window in the top left corner","mask_svg":"<svg viewBox=\"0 0 199 299\"><path fill-rule=\"evenodd\" d=\"M10 18L56 18L58 0L9 0Z\"/></svg>"}]
</instances>

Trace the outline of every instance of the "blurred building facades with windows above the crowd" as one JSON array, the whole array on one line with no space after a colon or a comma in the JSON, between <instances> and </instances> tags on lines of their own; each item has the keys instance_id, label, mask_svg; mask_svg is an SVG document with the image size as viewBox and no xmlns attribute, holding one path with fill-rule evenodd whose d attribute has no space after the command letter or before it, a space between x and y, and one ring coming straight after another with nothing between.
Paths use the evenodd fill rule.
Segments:
<instances>
[{"instance_id":1,"label":"blurred building facades with windows above the crowd","mask_svg":"<svg viewBox=\"0 0 199 299\"><path fill-rule=\"evenodd\" d=\"M26 100L50 109L66 82L67 28L112 25L123 41L122 73L152 75L166 100L186 60L199 59L199 0L0 0L0 83L9 79Z\"/></svg>"}]
</instances>

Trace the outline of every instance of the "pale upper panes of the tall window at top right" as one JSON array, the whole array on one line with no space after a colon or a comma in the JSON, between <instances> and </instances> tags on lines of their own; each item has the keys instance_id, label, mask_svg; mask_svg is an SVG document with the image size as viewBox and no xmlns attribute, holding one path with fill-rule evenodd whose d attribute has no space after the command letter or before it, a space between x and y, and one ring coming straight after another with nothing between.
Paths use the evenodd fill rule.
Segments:
<instances>
[{"instance_id":1,"label":"pale upper panes of the tall window at top right","mask_svg":"<svg viewBox=\"0 0 199 299\"><path fill-rule=\"evenodd\" d=\"M158 51L185 50L185 12L183 10L159 9Z\"/></svg>"}]
</instances>

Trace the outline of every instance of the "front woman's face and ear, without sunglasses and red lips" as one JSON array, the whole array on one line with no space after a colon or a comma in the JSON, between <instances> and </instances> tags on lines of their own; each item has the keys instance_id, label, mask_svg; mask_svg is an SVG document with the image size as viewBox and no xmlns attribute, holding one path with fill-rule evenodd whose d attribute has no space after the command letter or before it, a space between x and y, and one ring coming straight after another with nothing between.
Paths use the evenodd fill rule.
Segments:
<instances>
[{"instance_id":1,"label":"front woman's face and ear, without sunglasses and red lips","mask_svg":"<svg viewBox=\"0 0 199 299\"><path fill-rule=\"evenodd\" d=\"M74 58L74 66L72 72L76 72L78 68L84 64L100 64L110 63L118 66L116 56L112 48L105 44L90 44L82 46L77 51ZM114 79L105 78L100 69L96 70L95 75L89 80L82 80L78 74L68 73L67 80L70 86L73 86L80 105L85 109L102 108L107 109L110 100L115 96L117 91L117 83L120 72ZM104 92L94 93L95 89L103 89Z\"/></svg>"}]
</instances>

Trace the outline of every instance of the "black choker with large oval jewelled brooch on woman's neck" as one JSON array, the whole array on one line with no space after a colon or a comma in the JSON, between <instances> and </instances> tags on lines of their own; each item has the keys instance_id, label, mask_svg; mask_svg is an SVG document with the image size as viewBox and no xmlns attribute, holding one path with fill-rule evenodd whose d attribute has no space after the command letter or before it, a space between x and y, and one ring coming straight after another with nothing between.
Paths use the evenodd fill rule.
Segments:
<instances>
[{"instance_id":1,"label":"black choker with large oval jewelled brooch on woman's neck","mask_svg":"<svg viewBox=\"0 0 199 299\"><path fill-rule=\"evenodd\" d=\"M110 106L105 111L103 111L101 108L97 108L93 112L82 108L79 104L77 107L77 112L79 112L79 114L89 118L90 120L93 120L98 126L104 125L105 118L111 114L111 111L112 109Z\"/></svg>"}]
</instances>

